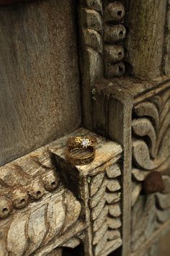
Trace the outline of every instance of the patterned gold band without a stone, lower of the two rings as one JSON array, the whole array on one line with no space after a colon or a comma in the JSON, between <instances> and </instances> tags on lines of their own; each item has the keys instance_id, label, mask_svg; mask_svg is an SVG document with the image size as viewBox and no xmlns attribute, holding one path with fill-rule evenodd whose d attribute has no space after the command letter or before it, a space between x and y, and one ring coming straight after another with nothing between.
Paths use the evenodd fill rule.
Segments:
<instances>
[{"instance_id":1,"label":"patterned gold band without a stone, lower of the two rings","mask_svg":"<svg viewBox=\"0 0 170 256\"><path fill-rule=\"evenodd\" d=\"M77 152L80 150L86 150L88 151L89 155L86 156L80 156L78 155L73 155L74 152ZM95 148L94 147L76 147L76 148L68 148L66 152L66 157L70 163L72 163L75 166L83 166L85 164L91 163L94 161L94 156L95 156Z\"/></svg>"}]
</instances>

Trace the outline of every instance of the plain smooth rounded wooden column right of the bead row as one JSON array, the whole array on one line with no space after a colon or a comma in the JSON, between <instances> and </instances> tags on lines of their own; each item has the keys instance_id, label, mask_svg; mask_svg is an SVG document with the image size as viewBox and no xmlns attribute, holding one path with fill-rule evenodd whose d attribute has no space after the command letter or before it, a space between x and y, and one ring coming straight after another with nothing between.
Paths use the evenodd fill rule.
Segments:
<instances>
[{"instance_id":1,"label":"plain smooth rounded wooden column right of the bead row","mask_svg":"<svg viewBox=\"0 0 170 256\"><path fill-rule=\"evenodd\" d=\"M135 77L153 80L164 74L164 29L166 0L128 0L125 24L128 35L125 60L130 63Z\"/></svg>"}]
</instances>

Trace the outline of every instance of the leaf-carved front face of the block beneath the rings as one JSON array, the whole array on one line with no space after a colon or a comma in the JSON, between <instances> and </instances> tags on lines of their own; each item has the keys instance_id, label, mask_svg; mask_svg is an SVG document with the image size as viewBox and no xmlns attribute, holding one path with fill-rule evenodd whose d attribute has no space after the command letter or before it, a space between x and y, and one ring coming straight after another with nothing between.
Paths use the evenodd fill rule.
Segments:
<instances>
[{"instance_id":1,"label":"leaf-carved front face of the block beneath the rings","mask_svg":"<svg viewBox=\"0 0 170 256\"><path fill-rule=\"evenodd\" d=\"M89 206L94 255L109 255L122 245L120 166L113 163L105 171L88 176Z\"/></svg>"}]
</instances>

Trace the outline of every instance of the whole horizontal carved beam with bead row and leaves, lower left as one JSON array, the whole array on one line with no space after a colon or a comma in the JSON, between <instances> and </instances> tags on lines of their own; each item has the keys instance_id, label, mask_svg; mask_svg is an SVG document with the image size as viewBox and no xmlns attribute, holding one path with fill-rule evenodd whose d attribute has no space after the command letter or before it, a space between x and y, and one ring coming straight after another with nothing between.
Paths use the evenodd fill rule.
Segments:
<instances>
[{"instance_id":1,"label":"whole horizontal carved beam with bead row and leaves, lower left","mask_svg":"<svg viewBox=\"0 0 170 256\"><path fill-rule=\"evenodd\" d=\"M0 168L1 255L48 255L76 247L86 228L81 202L61 184L50 159L55 141Z\"/></svg>"}]
</instances>

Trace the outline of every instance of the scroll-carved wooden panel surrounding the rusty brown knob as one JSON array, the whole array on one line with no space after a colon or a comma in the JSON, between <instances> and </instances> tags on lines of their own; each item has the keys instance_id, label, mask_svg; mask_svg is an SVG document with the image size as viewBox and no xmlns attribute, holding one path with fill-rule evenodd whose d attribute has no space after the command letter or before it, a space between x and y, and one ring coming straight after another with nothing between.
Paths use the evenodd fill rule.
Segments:
<instances>
[{"instance_id":1,"label":"scroll-carved wooden panel surrounding the rusty brown knob","mask_svg":"<svg viewBox=\"0 0 170 256\"><path fill-rule=\"evenodd\" d=\"M151 90L133 108L132 250L138 249L170 216L170 90ZM143 195L151 171L163 175L165 190Z\"/></svg>"}]
</instances>

